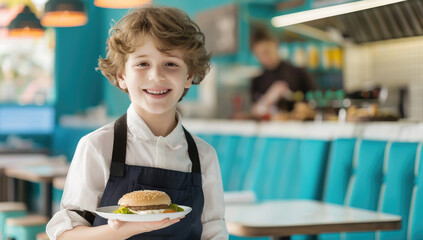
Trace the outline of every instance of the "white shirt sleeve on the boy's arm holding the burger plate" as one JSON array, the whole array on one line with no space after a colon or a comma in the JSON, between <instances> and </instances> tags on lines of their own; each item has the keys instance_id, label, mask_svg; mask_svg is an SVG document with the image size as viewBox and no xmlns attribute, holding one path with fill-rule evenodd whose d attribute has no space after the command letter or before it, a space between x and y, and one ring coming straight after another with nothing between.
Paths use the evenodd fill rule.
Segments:
<instances>
[{"instance_id":1,"label":"white shirt sleeve on the boy's arm holding the burger plate","mask_svg":"<svg viewBox=\"0 0 423 240\"><path fill-rule=\"evenodd\" d=\"M91 142L90 136L85 136L76 148L66 177L61 210L54 214L46 227L46 232L52 240L77 226L91 226L82 216L71 211L93 212L107 183L110 161L105 161L104 156L98 153Z\"/></svg>"}]
</instances>

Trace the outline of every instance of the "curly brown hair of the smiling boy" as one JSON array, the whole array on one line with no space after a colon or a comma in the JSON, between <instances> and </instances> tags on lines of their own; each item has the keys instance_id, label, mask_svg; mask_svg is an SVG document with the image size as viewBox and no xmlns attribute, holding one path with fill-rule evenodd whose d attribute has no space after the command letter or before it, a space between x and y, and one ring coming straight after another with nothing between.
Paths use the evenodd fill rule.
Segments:
<instances>
[{"instance_id":1,"label":"curly brown hair of the smiling boy","mask_svg":"<svg viewBox=\"0 0 423 240\"><path fill-rule=\"evenodd\" d=\"M210 70L210 54L198 25L182 10L173 7L145 5L133 9L109 31L106 58L98 59L98 68L109 81L119 87L117 74L123 73L128 55L139 44L140 37L151 37L161 52L178 49L193 75L193 84L200 84ZM188 92L185 89L184 94Z\"/></svg>"}]
</instances>

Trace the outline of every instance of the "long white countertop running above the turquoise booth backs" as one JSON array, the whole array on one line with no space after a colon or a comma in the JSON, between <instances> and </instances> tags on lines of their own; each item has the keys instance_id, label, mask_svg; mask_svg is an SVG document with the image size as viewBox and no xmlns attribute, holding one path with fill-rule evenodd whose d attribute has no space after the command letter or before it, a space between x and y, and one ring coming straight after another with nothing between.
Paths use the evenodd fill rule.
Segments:
<instances>
[{"instance_id":1,"label":"long white countertop running above the turquoise booth backs","mask_svg":"<svg viewBox=\"0 0 423 240\"><path fill-rule=\"evenodd\" d=\"M362 138L384 141L423 141L423 123L408 122L256 122L184 119L195 134L240 135L332 140Z\"/></svg>"}]
</instances>

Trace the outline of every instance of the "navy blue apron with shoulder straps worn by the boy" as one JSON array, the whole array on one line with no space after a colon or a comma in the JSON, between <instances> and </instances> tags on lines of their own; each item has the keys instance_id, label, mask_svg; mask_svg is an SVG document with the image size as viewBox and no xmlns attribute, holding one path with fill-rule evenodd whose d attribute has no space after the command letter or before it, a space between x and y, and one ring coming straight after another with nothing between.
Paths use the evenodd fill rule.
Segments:
<instances>
[{"instance_id":1,"label":"navy blue apron with shoulder straps worn by the boy","mask_svg":"<svg viewBox=\"0 0 423 240\"><path fill-rule=\"evenodd\" d=\"M192 172L188 173L125 164L126 114L115 122L110 176L99 207L117 205L118 200L128 192L160 190L170 196L172 203L192 208L192 211L176 224L135 235L129 239L200 239L203 231L201 214L204 206L200 158L194 139L185 128L184 132L188 142L188 155L192 162ZM107 219L96 216L93 226L103 224L107 224Z\"/></svg>"}]
</instances>

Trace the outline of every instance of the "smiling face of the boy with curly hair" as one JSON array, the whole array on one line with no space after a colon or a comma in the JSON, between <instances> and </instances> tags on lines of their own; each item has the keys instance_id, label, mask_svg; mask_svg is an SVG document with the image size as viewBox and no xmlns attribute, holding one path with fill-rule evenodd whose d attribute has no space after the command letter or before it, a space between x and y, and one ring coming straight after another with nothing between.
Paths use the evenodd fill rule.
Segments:
<instances>
[{"instance_id":1,"label":"smiling face of the boy with curly hair","mask_svg":"<svg viewBox=\"0 0 423 240\"><path fill-rule=\"evenodd\" d=\"M124 72L117 75L119 87L128 91L139 115L175 114L185 88L192 85L193 75L188 74L179 50L164 53L150 37L143 40L128 55Z\"/></svg>"}]
</instances>

